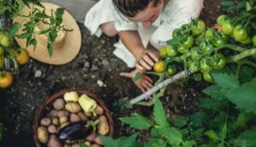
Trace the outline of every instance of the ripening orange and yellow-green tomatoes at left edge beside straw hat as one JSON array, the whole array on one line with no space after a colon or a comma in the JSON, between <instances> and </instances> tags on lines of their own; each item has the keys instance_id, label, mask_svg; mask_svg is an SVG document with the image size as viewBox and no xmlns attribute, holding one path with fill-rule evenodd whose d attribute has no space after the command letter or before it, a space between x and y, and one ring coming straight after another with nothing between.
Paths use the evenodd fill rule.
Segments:
<instances>
[{"instance_id":1,"label":"ripening orange and yellow-green tomatoes at left edge beside straw hat","mask_svg":"<svg viewBox=\"0 0 256 147\"><path fill-rule=\"evenodd\" d=\"M5 61L11 59L19 65L24 65L30 56L24 48L14 48L13 39L7 31L0 31L0 88L8 88L14 81L12 72L6 71Z\"/></svg>"}]
</instances>

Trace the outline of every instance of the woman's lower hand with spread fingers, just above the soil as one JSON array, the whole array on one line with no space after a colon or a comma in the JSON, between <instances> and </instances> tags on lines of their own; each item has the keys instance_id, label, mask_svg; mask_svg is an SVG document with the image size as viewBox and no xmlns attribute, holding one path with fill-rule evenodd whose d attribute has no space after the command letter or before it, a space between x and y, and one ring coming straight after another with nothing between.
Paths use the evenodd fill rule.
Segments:
<instances>
[{"instance_id":1,"label":"woman's lower hand with spread fingers, just above the soil","mask_svg":"<svg viewBox=\"0 0 256 147\"><path fill-rule=\"evenodd\" d=\"M137 88L139 88L143 93L145 93L148 89L153 87L152 85L153 80L149 76L147 76L144 73L144 71L135 69L134 71L131 71L131 72L121 72L120 76L125 76L132 79L133 77L136 76L137 72L140 72L142 74L142 77L137 81L135 81L134 83L137 86Z\"/></svg>"}]
</instances>

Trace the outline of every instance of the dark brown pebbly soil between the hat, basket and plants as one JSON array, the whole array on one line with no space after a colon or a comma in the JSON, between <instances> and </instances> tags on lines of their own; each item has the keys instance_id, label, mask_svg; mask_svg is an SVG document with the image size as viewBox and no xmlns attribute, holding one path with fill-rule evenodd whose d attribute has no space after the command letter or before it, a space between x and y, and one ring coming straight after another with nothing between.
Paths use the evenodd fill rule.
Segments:
<instances>
[{"instance_id":1,"label":"dark brown pebbly soil between the hat, basket and plants","mask_svg":"<svg viewBox=\"0 0 256 147\"><path fill-rule=\"evenodd\" d=\"M223 11L218 6L219 0L205 0L201 19L207 26L214 25ZM130 71L126 65L113 54L113 42L116 38L90 36L83 24L82 48L79 55L67 65L46 65L31 59L29 64L20 67L15 75L14 84L7 89L0 89L0 122L3 122L2 147L32 147L32 122L44 99L67 88L86 88L96 93L113 112L115 127L114 137L130 135L137 132L119 122L118 117L128 116L137 111L151 116L152 107L135 106L131 110L119 110L113 106L117 99L134 98L141 92L131 79L119 76L120 71ZM188 116L198 110L198 100L205 82L189 80L185 84L172 84L161 99L172 121L177 116ZM140 139L148 139L148 131L141 133Z\"/></svg>"}]
</instances>

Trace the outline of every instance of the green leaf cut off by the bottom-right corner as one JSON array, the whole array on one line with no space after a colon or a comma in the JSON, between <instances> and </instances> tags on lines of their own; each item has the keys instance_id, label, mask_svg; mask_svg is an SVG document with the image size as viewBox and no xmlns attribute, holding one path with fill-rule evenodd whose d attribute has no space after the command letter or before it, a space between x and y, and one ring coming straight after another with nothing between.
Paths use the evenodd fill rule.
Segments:
<instances>
[{"instance_id":1,"label":"green leaf cut off by the bottom-right corner","mask_svg":"<svg viewBox=\"0 0 256 147\"><path fill-rule=\"evenodd\" d=\"M247 130L244 133L241 133L238 138L235 140L236 146L241 147L255 147L256 146L256 128Z\"/></svg>"}]
</instances>

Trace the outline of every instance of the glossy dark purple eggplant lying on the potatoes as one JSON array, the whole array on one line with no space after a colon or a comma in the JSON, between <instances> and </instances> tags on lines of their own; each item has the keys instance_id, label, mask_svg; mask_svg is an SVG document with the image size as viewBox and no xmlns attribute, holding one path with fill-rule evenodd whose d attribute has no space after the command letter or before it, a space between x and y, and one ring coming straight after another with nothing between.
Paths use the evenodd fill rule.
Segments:
<instances>
[{"instance_id":1,"label":"glossy dark purple eggplant lying on the potatoes","mask_svg":"<svg viewBox=\"0 0 256 147\"><path fill-rule=\"evenodd\" d=\"M93 133L93 127L86 127L86 122L73 122L62 127L57 133L59 139L67 143L85 139L91 133Z\"/></svg>"}]
</instances>

